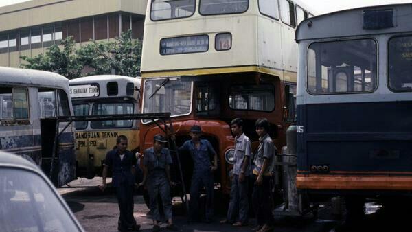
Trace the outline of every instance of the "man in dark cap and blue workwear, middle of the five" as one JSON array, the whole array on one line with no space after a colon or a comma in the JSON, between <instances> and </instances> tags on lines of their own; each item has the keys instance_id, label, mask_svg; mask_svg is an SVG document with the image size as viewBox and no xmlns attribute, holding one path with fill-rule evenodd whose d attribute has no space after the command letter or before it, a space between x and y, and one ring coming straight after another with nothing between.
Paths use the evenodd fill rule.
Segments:
<instances>
[{"instance_id":1,"label":"man in dark cap and blue workwear, middle of the five","mask_svg":"<svg viewBox=\"0 0 412 232\"><path fill-rule=\"evenodd\" d=\"M199 196L201 188L206 189L205 222L211 222L213 217L214 196L214 171L218 168L218 155L206 139L200 139L201 126L190 128L191 140L185 141L179 151L190 152L193 159L192 185L190 187L190 221L199 220ZM214 156L214 164L210 162L210 156Z\"/></svg>"}]
</instances>

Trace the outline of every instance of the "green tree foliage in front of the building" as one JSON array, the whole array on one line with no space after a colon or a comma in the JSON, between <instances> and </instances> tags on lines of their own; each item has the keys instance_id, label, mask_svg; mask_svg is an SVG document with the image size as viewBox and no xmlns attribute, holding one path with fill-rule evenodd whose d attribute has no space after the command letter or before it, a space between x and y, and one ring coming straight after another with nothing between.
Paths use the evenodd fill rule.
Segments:
<instances>
[{"instance_id":1,"label":"green tree foliage in front of the building","mask_svg":"<svg viewBox=\"0 0 412 232\"><path fill-rule=\"evenodd\" d=\"M117 75L139 76L141 40L132 39L130 30L113 41L91 42L76 49L73 38L67 37L44 54L34 58L21 56L25 60L21 67L52 71L69 79L113 71Z\"/></svg>"}]
</instances>

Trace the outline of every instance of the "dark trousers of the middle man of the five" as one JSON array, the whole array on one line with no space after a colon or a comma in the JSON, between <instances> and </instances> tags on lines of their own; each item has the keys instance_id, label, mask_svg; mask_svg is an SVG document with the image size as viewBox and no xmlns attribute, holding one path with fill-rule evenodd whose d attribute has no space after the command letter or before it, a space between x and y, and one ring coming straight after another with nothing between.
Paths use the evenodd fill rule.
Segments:
<instances>
[{"instance_id":1,"label":"dark trousers of the middle man of the five","mask_svg":"<svg viewBox=\"0 0 412 232\"><path fill-rule=\"evenodd\" d=\"M200 219L199 215L199 196L201 189L206 189L206 212L205 219L211 220L213 217L213 197L214 197L214 175L211 171L194 172L192 176L192 186L190 187L190 220Z\"/></svg>"}]
</instances>

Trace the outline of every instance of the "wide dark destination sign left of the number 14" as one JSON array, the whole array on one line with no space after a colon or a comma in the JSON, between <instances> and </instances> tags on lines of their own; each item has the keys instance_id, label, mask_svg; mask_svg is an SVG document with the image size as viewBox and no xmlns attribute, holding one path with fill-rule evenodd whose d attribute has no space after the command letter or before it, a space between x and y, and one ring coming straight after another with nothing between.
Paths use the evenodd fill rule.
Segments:
<instances>
[{"instance_id":1,"label":"wide dark destination sign left of the number 14","mask_svg":"<svg viewBox=\"0 0 412 232\"><path fill-rule=\"evenodd\" d=\"M209 49L209 36L184 36L160 40L160 54L186 54L204 52Z\"/></svg>"}]
</instances>

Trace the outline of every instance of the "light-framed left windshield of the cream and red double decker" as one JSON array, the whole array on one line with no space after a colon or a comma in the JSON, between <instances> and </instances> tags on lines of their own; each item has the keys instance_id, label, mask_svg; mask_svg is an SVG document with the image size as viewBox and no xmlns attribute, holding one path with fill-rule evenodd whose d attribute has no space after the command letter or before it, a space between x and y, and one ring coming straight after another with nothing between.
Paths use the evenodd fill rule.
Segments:
<instances>
[{"instance_id":1,"label":"light-framed left windshield of the cream and red double decker","mask_svg":"<svg viewBox=\"0 0 412 232\"><path fill-rule=\"evenodd\" d=\"M165 80L167 79L146 80L143 113L170 112L172 116L189 114L192 82Z\"/></svg>"}]
</instances>

